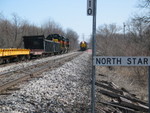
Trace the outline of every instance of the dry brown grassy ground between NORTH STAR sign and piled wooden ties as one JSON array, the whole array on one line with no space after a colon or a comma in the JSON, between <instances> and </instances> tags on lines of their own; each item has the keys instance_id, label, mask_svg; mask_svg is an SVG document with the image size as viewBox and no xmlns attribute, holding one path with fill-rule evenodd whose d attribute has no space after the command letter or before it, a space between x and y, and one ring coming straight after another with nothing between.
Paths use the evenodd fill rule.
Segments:
<instances>
[{"instance_id":1,"label":"dry brown grassy ground between NORTH STAR sign and piled wooden ties","mask_svg":"<svg viewBox=\"0 0 150 113\"><path fill-rule=\"evenodd\" d=\"M120 88L125 88L147 102L147 75L139 77L133 70L135 70L133 67L96 67L96 80L114 82Z\"/></svg>"}]
</instances>

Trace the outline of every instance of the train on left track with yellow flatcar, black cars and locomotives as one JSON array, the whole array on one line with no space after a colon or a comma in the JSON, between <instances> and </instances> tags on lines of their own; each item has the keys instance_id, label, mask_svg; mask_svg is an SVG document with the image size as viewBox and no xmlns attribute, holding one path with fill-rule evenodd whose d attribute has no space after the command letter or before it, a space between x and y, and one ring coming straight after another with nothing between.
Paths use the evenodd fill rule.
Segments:
<instances>
[{"instance_id":1,"label":"train on left track with yellow flatcar, black cars and locomotives","mask_svg":"<svg viewBox=\"0 0 150 113\"><path fill-rule=\"evenodd\" d=\"M24 48L0 49L0 64L37 57L57 55L69 51L70 41L59 34L23 36Z\"/></svg>"}]
</instances>

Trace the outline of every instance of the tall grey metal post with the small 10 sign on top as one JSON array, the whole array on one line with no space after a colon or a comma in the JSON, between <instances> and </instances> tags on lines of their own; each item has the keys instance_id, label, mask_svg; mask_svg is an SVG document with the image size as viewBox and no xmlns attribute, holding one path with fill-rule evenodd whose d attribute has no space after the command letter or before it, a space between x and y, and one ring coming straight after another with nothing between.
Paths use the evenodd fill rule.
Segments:
<instances>
[{"instance_id":1,"label":"tall grey metal post with the small 10 sign on top","mask_svg":"<svg viewBox=\"0 0 150 113\"><path fill-rule=\"evenodd\" d=\"M92 87L91 87L91 113L95 113L95 65L94 56L96 55L96 4L97 0L87 0L87 15L93 16L92 31Z\"/></svg>"}]
</instances>

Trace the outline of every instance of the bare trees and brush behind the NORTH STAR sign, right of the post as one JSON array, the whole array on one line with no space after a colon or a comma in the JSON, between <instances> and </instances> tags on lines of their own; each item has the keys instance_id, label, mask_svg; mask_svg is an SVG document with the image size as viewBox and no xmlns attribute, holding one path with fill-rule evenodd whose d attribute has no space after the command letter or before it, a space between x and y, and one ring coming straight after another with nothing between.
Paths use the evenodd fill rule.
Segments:
<instances>
[{"instance_id":1,"label":"bare trees and brush behind the NORTH STAR sign, right of the post","mask_svg":"<svg viewBox=\"0 0 150 113\"><path fill-rule=\"evenodd\" d=\"M122 26L104 24L97 28L96 50L107 56L150 56L150 0L142 0L143 15L135 14Z\"/></svg>"}]
</instances>

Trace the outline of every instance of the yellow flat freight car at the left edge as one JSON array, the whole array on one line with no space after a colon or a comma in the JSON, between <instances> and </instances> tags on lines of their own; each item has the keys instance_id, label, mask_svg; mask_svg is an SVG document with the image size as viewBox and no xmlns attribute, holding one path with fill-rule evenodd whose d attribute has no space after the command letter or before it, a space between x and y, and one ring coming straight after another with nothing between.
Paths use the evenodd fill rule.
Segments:
<instances>
[{"instance_id":1,"label":"yellow flat freight car at the left edge","mask_svg":"<svg viewBox=\"0 0 150 113\"><path fill-rule=\"evenodd\" d=\"M30 56L29 49L8 48L0 49L0 64L9 63L14 60L25 60Z\"/></svg>"}]
</instances>

